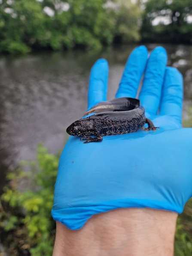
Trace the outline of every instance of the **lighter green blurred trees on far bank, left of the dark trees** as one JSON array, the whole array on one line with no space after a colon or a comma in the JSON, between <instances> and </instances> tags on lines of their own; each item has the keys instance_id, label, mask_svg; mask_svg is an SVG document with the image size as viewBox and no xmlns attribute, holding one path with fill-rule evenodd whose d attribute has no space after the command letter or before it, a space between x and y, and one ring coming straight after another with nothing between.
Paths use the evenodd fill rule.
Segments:
<instances>
[{"instance_id":1,"label":"lighter green blurred trees on far bank, left of the dark trees","mask_svg":"<svg viewBox=\"0 0 192 256\"><path fill-rule=\"evenodd\" d=\"M26 54L34 48L101 49L120 35L139 39L138 4L131 0L2 0L0 52ZM115 3L116 2L116 3Z\"/></svg>"}]
</instances>

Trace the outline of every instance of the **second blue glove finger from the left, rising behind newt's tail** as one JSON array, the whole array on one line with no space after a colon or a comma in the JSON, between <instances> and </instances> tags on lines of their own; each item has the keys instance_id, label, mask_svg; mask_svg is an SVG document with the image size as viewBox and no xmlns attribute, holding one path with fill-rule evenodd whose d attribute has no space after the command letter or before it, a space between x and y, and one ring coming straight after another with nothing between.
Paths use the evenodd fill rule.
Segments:
<instances>
[{"instance_id":1,"label":"second blue glove finger from the left, rising behind newt's tail","mask_svg":"<svg viewBox=\"0 0 192 256\"><path fill-rule=\"evenodd\" d=\"M145 46L136 47L127 60L122 75L116 98L131 97L135 98L139 87L140 79L145 70L148 51Z\"/></svg>"}]
</instances>

